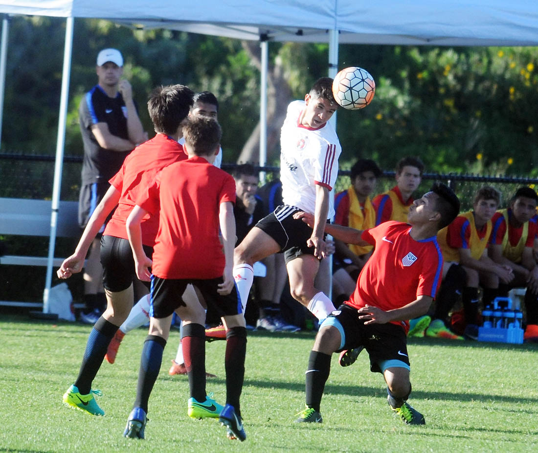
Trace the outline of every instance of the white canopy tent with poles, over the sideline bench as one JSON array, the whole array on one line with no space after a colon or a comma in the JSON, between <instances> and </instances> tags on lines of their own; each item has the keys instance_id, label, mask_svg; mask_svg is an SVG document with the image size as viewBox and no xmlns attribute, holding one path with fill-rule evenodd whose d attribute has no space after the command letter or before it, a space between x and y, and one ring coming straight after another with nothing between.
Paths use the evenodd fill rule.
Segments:
<instances>
[{"instance_id":1,"label":"white canopy tent with poles, over the sideline bench","mask_svg":"<svg viewBox=\"0 0 538 453\"><path fill-rule=\"evenodd\" d=\"M408 4L411 3L411 4ZM267 41L329 43L329 76L336 74L338 43L435 46L536 46L538 2L529 0L0 0L0 13L66 17L66 40L52 194L44 312L52 281L63 145L67 115L73 18L102 18L129 26L168 28L238 39L260 40L260 121L265 126ZM4 20L4 30L7 22ZM5 59L2 33L1 53ZM0 55L0 91L5 63ZM3 96L3 95L2 95ZM0 97L0 102L2 97ZM1 104L0 104L1 109ZM1 116L0 116L1 125ZM265 164L261 128L260 164Z\"/></svg>"}]
</instances>

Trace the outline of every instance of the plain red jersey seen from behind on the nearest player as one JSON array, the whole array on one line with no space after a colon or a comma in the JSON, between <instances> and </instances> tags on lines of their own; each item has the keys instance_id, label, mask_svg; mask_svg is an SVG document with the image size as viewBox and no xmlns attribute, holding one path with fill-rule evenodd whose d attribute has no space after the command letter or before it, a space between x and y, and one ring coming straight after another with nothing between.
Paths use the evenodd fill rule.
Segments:
<instances>
[{"instance_id":1,"label":"plain red jersey seen from behind on the nearest player","mask_svg":"<svg viewBox=\"0 0 538 453\"><path fill-rule=\"evenodd\" d=\"M217 278L224 270L218 240L221 203L235 203L235 181L203 157L168 165L136 200L159 214L153 275L160 278Z\"/></svg>"}]
</instances>

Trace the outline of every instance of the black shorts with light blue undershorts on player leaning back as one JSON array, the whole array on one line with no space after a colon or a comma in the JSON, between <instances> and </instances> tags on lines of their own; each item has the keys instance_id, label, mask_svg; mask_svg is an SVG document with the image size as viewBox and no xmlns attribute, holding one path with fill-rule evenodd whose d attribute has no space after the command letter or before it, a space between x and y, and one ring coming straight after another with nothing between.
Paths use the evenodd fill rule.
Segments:
<instances>
[{"instance_id":1,"label":"black shorts with light blue undershorts on player leaning back","mask_svg":"<svg viewBox=\"0 0 538 453\"><path fill-rule=\"evenodd\" d=\"M392 323L365 325L357 309L347 304L340 305L328 319L331 317L338 319L344 329L344 346L339 351L364 346L370 356L370 371L381 373L379 363L384 361L399 361L409 366L403 327Z\"/></svg>"}]
</instances>

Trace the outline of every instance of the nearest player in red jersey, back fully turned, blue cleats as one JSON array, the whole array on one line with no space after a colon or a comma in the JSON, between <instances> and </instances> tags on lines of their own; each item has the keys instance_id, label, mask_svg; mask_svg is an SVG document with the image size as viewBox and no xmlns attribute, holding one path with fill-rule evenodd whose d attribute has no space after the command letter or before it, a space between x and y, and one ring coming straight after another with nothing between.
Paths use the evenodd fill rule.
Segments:
<instances>
[{"instance_id":1,"label":"nearest player in red jersey, back fully turned, blue cleats","mask_svg":"<svg viewBox=\"0 0 538 453\"><path fill-rule=\"evenodd\" d=\"M189 158L164 168L140 193L127 220L137 275L140 280L151 278L151 307L137 396L124 436L144 438L148 400L176 311L183 322L181 343L190 387L188 415L218 417L228 427L229 438L244 441L239 396L245 372L246 328L232 274L235 181L213 165L221 139L221 128L215 120L193 119L183 126L183 134ZM147 213L159 215L152 259L146 255L141 240L140 222ZM221 316L226 326L224 407L206 393L206 313L199 302L182 300L188 284L201 291L208 307Z\"/></svg>"}]
</instances>

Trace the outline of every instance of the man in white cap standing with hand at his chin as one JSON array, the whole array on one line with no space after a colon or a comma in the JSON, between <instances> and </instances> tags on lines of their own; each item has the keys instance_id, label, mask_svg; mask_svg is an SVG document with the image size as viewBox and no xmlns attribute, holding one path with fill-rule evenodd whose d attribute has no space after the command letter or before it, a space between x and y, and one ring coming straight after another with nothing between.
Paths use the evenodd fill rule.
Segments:
<instances>
[{"instance_id":1,"label":"man in white cap standing with hand at his chin","mask_svg":"<svg viewBox=\"0 0 538 453\"><path fill-rule=\"evenodd\" d=\"M84 95L79 107L84 144L79 199L81 228L86 226L110 186L109 179L121 168L125 157L136 145L147 140L133 102L131 84L125 79L120 80L123 74L122 54L114 48L99 52L96 73L97 85ZM84 271L86 309L80 319L88 324L95 324L100 316L97 294L103 295L104 299L100 239L96 238L90 247Z\"/></svg>"}]
</instances>

